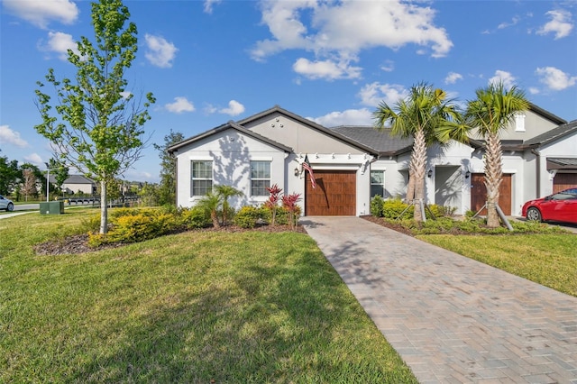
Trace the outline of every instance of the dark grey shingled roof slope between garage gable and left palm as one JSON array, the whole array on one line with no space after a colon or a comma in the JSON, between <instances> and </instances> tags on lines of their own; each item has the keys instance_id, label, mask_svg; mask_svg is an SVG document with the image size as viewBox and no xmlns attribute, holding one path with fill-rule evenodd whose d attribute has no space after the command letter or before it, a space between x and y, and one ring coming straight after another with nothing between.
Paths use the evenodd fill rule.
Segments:
<instances>
[{"instance_id":1,"label":"dark grey shingled roof slope between garage gable and left palm","mask_svg":"<svg viewBox=\"0 0 577 384\"><path fill-rule=\"evenodd\" d=\"M377 131L373 127L366 125L341 125L331 128L331 130L355 142L362 143L380 155L397 155L410 151L413 145L412 138L403 139L393 136L388 128L383 131Z\"/></svg>"}]
</instances>

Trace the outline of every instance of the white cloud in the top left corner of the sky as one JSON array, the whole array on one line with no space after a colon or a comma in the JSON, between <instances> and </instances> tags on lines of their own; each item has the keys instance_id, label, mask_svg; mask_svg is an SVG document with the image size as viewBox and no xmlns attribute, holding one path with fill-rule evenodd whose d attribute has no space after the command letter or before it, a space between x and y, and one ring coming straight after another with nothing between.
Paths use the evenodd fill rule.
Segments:
<instances>
[{"instance_id":1,"label":"white cloud in the top left corner of the sky","mask_svg":"<svg viewBox=\"0 0 577 384\"><path fill-rule=\"evenodd\" d=\"M48 28L50 21L74 23L79 13L76 4L69 0L4 0L3 6L42 29Z\"/></svg>"}]
</instances>

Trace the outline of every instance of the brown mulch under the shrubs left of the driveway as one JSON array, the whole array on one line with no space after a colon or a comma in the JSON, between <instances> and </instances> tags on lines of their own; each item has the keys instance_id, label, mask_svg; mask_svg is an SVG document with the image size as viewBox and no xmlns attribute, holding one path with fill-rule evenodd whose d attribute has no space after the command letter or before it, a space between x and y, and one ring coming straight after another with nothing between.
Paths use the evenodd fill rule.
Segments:
<instances>
[{"instance_id":1,"label":"brown mulch under the shrubs left of the driveway","mask_svg":"<svg viewBox=\"0 0 577 384\"><path fill-rule=\"evenodd\" d=\"M241 233L249 231L258 232L268 232L268 233L279 233L279 232L289 232L291 231L289 225L259 225L252 229L241 228L236 225L225 225L220 228L203 228L194 230L195 232L227 232L227 233ZM298 225L294 228L293 232L297 233L307 233L302 225ZM102 244L98 247L88 246L88 235L87 233L75 234L72 236L65 237L59 240L53 240L50 242L42 242L41 244L36 244L34 246L34 251L37 255L41 256L56 256L61 254L78 254L87 253L93 251L100 251L109 248L118 248L126 244L122 242L114 242L110 244Z\"/></svg>"}]
</instances>

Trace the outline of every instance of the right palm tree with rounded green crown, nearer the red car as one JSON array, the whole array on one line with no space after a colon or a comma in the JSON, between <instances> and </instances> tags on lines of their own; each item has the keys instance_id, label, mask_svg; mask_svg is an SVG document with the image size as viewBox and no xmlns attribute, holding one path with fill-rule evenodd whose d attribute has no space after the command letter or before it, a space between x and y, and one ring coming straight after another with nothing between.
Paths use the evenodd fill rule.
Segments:
<instances>
[{"instance_id":1,"label":"right palm tree with rounded green crown, nearer the red car","mask_svg":"<svg viewBox=\"0 0 577 384\"><path fill-rule=\"evenodd\" d=\"M525 92L517 86L506 89L501 81L479 88L475 94L477 98L467 103L465 119L470 126L477 128L477 133L486 141L484 184L487 187L487 226L495 228L499 226L497 205L503 178L499 133L514 121L515 114L529 108L529 102Z\"/></svg>"}]
</instances>

